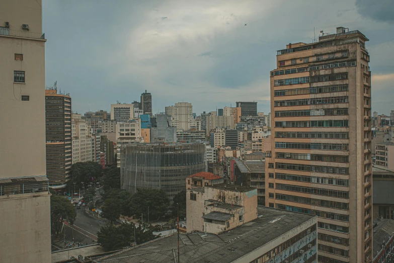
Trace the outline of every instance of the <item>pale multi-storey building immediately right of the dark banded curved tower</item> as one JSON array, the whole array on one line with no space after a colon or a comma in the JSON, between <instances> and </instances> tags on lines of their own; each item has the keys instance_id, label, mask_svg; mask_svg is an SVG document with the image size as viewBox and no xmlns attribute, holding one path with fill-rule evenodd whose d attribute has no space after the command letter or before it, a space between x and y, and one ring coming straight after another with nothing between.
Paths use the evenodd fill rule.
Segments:
<instances>
[{"instance_id":1,"label":"pale multi-storey building immediately right of the dark banded curved tower","mask_svg":"<svg viewBox=\"0 0 394 263\"><path fill-rule=\"evenodd\" d=\"M72 163L92 161L95 158L96 137L90 134L91 127L81 118L81 114L72 114Z\"/></svg>"}]
</instances>

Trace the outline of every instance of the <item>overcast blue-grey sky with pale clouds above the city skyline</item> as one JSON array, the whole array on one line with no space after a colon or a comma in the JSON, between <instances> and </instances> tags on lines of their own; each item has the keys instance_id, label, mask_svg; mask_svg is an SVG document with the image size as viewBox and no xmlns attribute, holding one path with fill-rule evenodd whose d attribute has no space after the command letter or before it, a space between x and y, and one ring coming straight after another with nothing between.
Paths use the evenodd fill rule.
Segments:
<instances>
[{"instance_id":1,"label":"overcast blue-grey sky with pale clouds above the city skyline","mask_svg":"<svg viewBox=\"0 0 394 263\"><path fill-rule=\"evenodd\" d=\"M245 26L245 24L248 24ZM72 110L139 101L193 112L258 101L270 111L276 50L344 26L370 39L372 110L394 110L394 1L43 1L46 85Z\"/></svg>"}]
</instances>

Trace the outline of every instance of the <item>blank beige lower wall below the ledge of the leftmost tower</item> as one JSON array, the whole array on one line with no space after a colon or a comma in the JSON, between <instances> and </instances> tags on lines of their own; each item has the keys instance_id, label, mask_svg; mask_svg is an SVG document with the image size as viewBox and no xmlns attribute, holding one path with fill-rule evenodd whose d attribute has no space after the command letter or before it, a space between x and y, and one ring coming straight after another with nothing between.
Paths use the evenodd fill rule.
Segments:
<instances>
[{"instance_id":1,"label":"blank beige lower wall below the ledge of the leftmost tower","mask_svg":"<svg viewBox=\"0 0 394 263\"><path fill-rule=\"evenodd\" d=\"M50 194L0 196L0 261L51 262Z\"/></svg>"}]
</instances>

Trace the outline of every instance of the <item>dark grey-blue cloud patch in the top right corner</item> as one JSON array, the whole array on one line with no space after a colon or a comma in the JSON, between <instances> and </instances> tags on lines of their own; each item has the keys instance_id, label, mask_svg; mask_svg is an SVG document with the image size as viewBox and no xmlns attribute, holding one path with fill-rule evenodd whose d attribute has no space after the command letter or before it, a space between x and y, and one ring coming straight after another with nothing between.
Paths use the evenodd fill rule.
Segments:
<instances>
[{"instance_id":1,"label":"dark grey-blue cloud patch in the top right corner","mask_svg":"<svg viewBox=\"0 0 394 263\"><path fill-rule=\"evenodd\" d=\"M394 23L394 1L392 0L356 0L360 15L378 22Z\"/></svg>"}]
</instances>

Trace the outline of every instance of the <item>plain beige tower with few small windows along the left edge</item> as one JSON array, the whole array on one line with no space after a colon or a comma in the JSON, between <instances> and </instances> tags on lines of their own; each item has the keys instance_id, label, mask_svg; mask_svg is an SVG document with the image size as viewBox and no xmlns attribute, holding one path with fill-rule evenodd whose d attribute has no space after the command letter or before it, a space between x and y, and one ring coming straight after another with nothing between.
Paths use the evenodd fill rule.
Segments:
<instances>
[{"instance_id":1,"label":"plain beige tower with few small windows along the left edge","mask_svg":"<svg viewBox=\"0 0 394 263\"><path fill-rule=\"evenodd\" d=\"M0 4L2 262L51 261L41 5L41 0Z\"/></svg>"}]
</instances>

